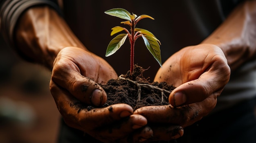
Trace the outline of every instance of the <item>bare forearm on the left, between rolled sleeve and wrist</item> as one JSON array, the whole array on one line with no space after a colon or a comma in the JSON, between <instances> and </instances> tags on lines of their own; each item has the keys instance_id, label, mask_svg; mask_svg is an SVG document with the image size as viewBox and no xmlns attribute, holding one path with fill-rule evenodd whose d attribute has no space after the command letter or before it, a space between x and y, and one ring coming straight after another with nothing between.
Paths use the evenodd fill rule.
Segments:
<instances>
[{"instance_id":1,"label":"bare forearm on the left, between rolled sleeve and wrist","mask_svg":"<svg viewBox=\"0 0 256 143\"><path fill-rule=\"evenodd\" d=\"M67 46L86 49L67 26L63 18L48 6L31 7L17 22L16 48L32 62L49 69L56 55Z\"/></svg>"}]
</instances>

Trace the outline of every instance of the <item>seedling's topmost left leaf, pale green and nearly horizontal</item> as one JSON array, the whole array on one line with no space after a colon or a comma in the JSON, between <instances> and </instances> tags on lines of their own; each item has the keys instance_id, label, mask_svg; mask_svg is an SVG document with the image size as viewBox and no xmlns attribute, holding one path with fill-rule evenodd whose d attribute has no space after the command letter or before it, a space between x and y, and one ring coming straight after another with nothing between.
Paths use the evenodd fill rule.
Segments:
<instances>
[{"instance_id":1,"label":"seedling's topmost left leaf, pale green and nearly horizontal","mask_svg":"<svg viewBox=\"0 0 256 143\"><path fill-rule=\"evenodd\" d=\"M125 20L130 20L132 21L132 19L134 19L135 17L132 16L128 11L126 11L125 9L110 9L108 11L105 11L106 14L111 15L111 16L116 16L118 18L122 18Z\"/></svg>"}]
</instances>

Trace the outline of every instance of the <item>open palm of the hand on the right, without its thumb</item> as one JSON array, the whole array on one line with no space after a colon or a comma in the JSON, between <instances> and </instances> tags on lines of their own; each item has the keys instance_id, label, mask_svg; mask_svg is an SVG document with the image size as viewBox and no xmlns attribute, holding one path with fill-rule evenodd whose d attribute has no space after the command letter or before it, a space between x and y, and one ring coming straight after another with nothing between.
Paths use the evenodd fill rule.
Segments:
<instances>
[{"instance_id":1,"label":"open palm of the hand on the right, without its thumb","mask_svg":"<svg viewBox=\"0 0 256 143\"><path fill-rule=\"evenodd\" d=\"M189 49L189 50L188 50ZM160 68L155 81L166 81L175 87L188 81L198 79L209 70L213 57L218 54L213 49L189 46L172 55ZM216 59L217 60L217 59Z\"/></svg>"}]
</instances>

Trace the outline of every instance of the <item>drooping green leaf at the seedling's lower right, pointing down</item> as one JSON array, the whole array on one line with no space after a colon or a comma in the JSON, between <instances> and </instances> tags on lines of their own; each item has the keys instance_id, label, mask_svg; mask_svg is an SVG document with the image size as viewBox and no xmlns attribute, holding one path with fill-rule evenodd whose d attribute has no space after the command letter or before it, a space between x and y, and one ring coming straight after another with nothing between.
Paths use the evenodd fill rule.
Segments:
<instances>
[{"instance_id":1,"label":"drooping green leaf at the seedling's lower right, pointing down","mask_svg":"<svg viewBox=\"0 0 256 143\"><path fill-rule=\"evenodd\" d=\"M146 47L148 48L148 51L150 51L150 53L162 67L160 45L158 44L157 40L154 37L148 35L142 35L142 38Z\"/></svg>"}]
</instances>

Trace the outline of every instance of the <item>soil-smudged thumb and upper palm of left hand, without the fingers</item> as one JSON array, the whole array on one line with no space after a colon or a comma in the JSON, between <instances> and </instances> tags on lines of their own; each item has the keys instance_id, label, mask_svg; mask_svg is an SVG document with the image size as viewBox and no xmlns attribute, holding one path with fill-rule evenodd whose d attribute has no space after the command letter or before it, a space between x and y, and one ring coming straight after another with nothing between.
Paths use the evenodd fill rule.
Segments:
<instances>
[{"instance_id":1,"label":"soil-smudged thumb and upper palm of left hand, without the fingers","mask_svg":"<svg viewBox=\"0 0 256 143\"><path fill-rule=\"evenodd\" d=\"M60 51L52 70L55 84L79 101L94 106L101 106L107 100L106 93L97 83L105 84L111 78L117 78L117 74L106 61L76 47Z\"/></svg>"}]
</instances>

